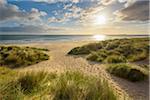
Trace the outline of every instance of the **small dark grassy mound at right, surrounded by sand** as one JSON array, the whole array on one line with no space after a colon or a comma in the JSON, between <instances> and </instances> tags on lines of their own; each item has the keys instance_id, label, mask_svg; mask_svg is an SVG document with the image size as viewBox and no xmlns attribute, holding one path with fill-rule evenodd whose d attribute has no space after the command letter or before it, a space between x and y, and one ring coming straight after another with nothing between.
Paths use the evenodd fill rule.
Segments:
<instances>
[{"instance_id":1,"label":"small dark grassy mound at right, surrounded by sand","mask_svg":"<svg viewBox=\"0 0 150 100\"><path fill-rule=\"evenodd\" d=\"M144 80L148 74L137 68L132 68L129 64L108 65L107 71L115 76L128 79L132 82Z\"/></svg>"}]
</instances>

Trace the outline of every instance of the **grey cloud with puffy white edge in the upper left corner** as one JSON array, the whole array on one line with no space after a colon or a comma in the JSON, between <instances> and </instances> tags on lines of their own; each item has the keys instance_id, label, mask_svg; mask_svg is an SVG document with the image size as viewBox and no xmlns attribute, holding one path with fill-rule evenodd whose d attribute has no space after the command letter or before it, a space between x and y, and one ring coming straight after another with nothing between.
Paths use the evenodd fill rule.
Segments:
<instances>
[{"instance_id":1,"label":"grey cloud with puffy white edge in the upper left corner","mask_svg":"<svg viewBox=\"0 0 150 100\"><path fill-rule=\"evenodd\" d=\"M19 10L16 5L7 4L6 1L0 1L0 21L18 19L18 20L39 20L41 16L47 13L32 8L30 12Z\"/></svg>"}]
</instances>

